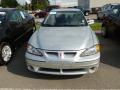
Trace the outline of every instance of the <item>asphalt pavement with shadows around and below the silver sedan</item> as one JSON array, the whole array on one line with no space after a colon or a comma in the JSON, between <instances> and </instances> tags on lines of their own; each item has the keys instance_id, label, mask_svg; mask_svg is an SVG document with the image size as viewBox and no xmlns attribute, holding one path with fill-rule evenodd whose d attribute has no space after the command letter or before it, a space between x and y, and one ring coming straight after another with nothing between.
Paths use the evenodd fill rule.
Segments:
<instances>
[{"instance_id":1,"label":"asphalt pavement with shadows around and below the silver sedan","mask_svg":"<svg viewBox=\"0 0 120 90\"><path fill-rule=\"evenodd\" d=\"M99 70L78 76L52 76L27 70L25 46L16 51L10 64L0 67L0 88L18 89L120 89L120 40L104 39Z\"/></svg>"}]
</instances>

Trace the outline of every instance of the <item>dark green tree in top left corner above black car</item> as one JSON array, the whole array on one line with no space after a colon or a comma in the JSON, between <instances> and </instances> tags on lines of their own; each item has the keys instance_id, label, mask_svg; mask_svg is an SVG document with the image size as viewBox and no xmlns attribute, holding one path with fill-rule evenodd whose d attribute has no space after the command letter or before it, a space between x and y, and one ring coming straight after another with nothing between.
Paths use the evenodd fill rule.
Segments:
<instances>
[{"instance_id":1,"label":"dark green tree in top left corner above black car","mask_svg":"<svg viewBox=\"0 0 120 90\"><path fill-rule=\"evenodd\" d=\"M14 8L18 6L18 3L16 0L1 0L1 6Z\"/></svg>"}]
</instances>

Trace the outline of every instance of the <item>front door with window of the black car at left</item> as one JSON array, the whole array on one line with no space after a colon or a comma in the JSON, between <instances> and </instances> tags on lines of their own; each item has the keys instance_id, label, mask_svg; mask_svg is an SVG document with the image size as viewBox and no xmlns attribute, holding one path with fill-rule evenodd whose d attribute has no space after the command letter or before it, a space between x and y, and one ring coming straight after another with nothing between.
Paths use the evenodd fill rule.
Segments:
<instances>
[{"instance_id":1,"label":"front door with window of the black car at left","mask_svg":"<svg viewBox=\"0 0 120 90\"><path fill-rule=\"evenodd\" d=\"M10 37L17 41L23 36L24 27L23 27L23 18L19 10L15 10L9 16L9 30Z\"/></svg>"}]
</instances>

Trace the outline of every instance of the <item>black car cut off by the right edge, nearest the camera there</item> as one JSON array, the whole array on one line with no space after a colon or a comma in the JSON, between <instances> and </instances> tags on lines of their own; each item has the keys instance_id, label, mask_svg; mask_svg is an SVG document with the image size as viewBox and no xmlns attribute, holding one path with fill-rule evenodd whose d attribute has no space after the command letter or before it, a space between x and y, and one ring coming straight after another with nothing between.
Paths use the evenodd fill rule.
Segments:
<instances>
[{"instance_id":1,"label":"black car cut off by the right edge, nearest the camera there","mask_svg":"<svg viewBox=\"0 0 120 90\"><path fill-rule=\"evenodd\" d=\"M102 21L102 36L111 37L120 35L120 4L110 10L109 15Z\"/></svg>"}]
</instances>

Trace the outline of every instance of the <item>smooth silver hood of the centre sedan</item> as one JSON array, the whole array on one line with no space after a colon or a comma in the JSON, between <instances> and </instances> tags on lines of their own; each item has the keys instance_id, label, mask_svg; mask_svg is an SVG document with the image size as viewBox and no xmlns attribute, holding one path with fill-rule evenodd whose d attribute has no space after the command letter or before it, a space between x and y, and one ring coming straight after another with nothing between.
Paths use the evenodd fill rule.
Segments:
<instances>
[{"instance_id":1,"label":"smooth silver hood of the centre sedan","mask_svg":"<svg viewBox=\"0 0 120 90\"><path fill-rule=\"evenodd\" d=\"M30 43L44 50L81 50L94 45L91 32L89 26L41 27Z\"/></svg>"}]
</instances>

